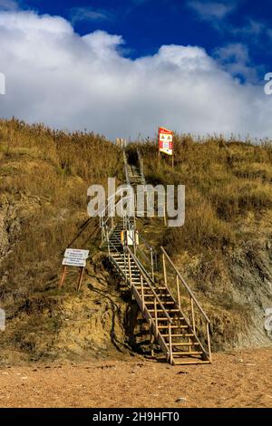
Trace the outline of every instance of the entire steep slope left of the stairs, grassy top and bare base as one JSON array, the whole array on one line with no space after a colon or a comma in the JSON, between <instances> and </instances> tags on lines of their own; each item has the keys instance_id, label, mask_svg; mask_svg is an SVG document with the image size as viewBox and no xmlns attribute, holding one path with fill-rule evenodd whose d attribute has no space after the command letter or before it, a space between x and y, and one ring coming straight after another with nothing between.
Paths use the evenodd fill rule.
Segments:
<instances>
[{"instance_id":1,"label":"entire steep slope left of the stairs, grassy top and bare base","mask_svg":"<svg viewBox=\"0 0 272 426\"><path fill-rule=\"evenodd\" d=\"M98 250L97 222L86 222L87 189L118 177L119 157L100 136L0 121L2 360L111 353L114 339L124 340L118 313L127 305L101 259L88 266L83 294L75 292L77 271L57 290L63 250L72 241Z\"/></svg>"}]
</instances>

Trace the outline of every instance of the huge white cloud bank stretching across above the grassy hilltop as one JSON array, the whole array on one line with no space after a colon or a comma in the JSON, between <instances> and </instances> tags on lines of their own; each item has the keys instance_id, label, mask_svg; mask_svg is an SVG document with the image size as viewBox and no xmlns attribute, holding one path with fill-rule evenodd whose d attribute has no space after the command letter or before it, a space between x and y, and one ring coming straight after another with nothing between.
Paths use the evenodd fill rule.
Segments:
<instances>
[{"instance_id":1,"label":"huge white cloud bank stretching across above the grassy hilltop","mask_svg":"<svg viewBox=\"0 0 272 426\"><path fill-rule=\"evenodd\" d=\"M272 137L272 96L261 85L241 84L196 46L131 60L122 43L102 31L75 34L61 17L0 12L0 115L111 138L153 135L158 125Z\"/></svg>"}]
</instances>

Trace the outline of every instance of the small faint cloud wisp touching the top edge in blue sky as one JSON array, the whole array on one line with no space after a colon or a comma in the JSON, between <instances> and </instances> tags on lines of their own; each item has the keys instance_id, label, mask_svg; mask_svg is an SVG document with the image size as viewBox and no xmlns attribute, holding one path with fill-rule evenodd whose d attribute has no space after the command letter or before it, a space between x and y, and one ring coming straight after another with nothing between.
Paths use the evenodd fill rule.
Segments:
<instances>
[{"instance_id":1,"label":"small faint cloud wisp touching the top edge in blue sky","mask_svg":"<svg viewBox=\"0 0 272 426\"><path fill-rule=\"evenodd\" d=\"M199 0L189 0L188 5L193 9L201 19L221 20L230 14L236 5L233 2L203 2Z\"/></svg>"}]
</instances>

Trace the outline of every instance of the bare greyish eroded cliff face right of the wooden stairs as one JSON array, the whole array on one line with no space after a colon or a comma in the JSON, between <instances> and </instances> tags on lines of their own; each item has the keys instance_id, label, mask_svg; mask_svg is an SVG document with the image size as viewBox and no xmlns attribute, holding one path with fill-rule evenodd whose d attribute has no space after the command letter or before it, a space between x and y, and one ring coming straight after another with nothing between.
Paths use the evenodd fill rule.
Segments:
<instances>
[{"instance_id":1,"label":"bare greyish eroded cliff face right of the wooden stairs","mask_svg":"<svg viewBox=\"0 0 272 426\"><path fill-rule=\"evenodd\" d=\"M180 271L209 315L215 350L272 344L271 333L265 329L266 309L272 307L272 213L248 215L237 228L247 233L247 238L226 251L216 276L203 279L207 262L199 255L190 257L185 252L176 257Z\"/></svg>"}]
</instances>

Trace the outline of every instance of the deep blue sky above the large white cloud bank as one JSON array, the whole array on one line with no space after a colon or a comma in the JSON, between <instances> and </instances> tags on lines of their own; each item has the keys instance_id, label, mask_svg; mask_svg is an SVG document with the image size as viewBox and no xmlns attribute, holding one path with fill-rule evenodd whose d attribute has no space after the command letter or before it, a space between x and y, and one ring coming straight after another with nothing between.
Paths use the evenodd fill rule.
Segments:
<instances>
[{"instance_id":1,"label":"deep blue sky above the large white cloud bank","mask_svg":"<svg viewBox=\"0 0 272 426\"><path fill-rule=\"evenodd\" d=\"M121 34L132 58L153 54L162 44L198 45L213 55L232 43L248 49L248 63L260 78L272 63L272 0L28 0L21 5L61 15L79 34L98 29Z\"/></svg>"}]
</instances>

